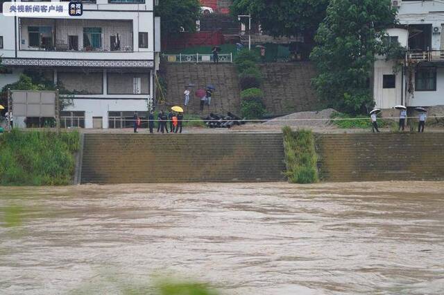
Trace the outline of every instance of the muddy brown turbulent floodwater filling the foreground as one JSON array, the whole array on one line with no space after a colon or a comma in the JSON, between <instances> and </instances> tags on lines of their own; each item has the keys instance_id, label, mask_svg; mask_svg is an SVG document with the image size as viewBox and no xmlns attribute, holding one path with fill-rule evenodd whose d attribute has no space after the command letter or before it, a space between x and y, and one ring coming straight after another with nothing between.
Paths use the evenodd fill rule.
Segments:
<instances>
[{"instance_id":1,"label":"muddy brown turbulent floodwater filling the foreground","mask_svg":"<svg viewBox=\"0 0 444 295\"><path fill-rule=\"evenodd\" d=\"M0 208L0 294L444 294L444 183L2 187Z\"/></svg>"}]
</instances>

